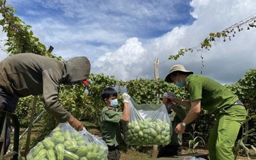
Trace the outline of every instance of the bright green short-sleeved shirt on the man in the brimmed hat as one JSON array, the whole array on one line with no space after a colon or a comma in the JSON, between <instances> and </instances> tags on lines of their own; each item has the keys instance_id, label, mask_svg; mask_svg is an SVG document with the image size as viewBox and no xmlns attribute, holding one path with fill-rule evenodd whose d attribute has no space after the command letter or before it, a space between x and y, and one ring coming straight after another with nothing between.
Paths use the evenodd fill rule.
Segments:
<instances>
[{"instance_id":1,"label":"bright green short-sleeved shirt on the man in the brimmed hat","mask_svg":"<svg viewBox=\"0 0 256 160\"><path fill-rule=\"evenodd\" d=\"M231 106L238 100L228 88L208 77L191 74L186 78L186 84L190 102L200 99L202 108L210 113Z\"/></svg>"}]
</instances>

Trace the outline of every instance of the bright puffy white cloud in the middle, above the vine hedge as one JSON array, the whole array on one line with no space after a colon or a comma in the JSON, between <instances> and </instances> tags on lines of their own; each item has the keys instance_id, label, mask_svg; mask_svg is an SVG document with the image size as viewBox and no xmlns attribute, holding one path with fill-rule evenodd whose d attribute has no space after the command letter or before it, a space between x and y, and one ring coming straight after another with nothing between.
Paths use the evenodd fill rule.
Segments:
<instances>
[{"instance_id":1,"label":"bright puffy white cloud in the middle, above the vine hedge","mask_svg":"<svg viewBox=\"0 0 256 160\"><path fill-rule=\"evenodd\" d=\"M146 50L141 46L138 38L130 38L115 52L107 52L93 62L92 68L95 73L113 76L118 80L138 77L143 68L137 68L143 63Z\"/></svg>"}]
</instances>

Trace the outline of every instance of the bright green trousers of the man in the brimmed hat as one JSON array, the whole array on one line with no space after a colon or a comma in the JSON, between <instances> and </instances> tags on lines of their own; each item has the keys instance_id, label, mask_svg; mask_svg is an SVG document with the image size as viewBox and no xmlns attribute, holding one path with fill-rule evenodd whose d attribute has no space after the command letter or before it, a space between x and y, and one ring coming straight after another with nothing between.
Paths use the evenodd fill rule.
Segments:
<instances>
[{"instance_id":1,"label":"bright green trousers of the man in the brimmed hat","mask_svg":"<svg viewBox=\"0 0 256 160\"><path fill-rule=\"evenodd\" d=\"M216 122L208 140L211 160L234 160L232 148L246 115L246 109L241 105L221 109L216 115Z\"/></svg>"}]
</instances>

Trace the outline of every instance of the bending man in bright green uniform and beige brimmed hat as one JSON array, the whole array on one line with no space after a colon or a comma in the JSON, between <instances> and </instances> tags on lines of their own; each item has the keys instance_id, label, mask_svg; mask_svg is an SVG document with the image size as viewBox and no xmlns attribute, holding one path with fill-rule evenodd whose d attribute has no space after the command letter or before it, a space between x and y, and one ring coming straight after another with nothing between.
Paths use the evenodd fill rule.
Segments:
<instances>
[{"instance_id":1,"label":"bending man in bright green uniform and beige brimmed hat","mask_svg":"<svg viewBox=\"0 0 256 160\"><path fill-rule=\"evenodd\" d=\"M206 109L216 115L216 122L208 140L210 159L234 159L232 148L247 115L237 95L208 77L193 75L193 72L186 70L183 65L174 65L165 81L185 87L189 92L189 100L168 96L172 102L190 108L186 118L175 128L175 132L182 134L186 125L199 115L201 108Z\"/></svg>"}]
</instances>

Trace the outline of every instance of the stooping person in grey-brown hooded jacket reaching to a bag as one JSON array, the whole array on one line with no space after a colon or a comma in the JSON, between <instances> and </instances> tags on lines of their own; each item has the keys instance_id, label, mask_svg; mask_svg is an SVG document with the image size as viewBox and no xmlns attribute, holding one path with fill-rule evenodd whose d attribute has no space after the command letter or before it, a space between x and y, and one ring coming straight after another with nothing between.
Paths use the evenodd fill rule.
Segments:
<instances>
[{"instance_id":1,"label":"stooping person in grey-brown hooded jacket reaching to a bag","mask_svg":"<svg viewBox=\"0 0 256 160\"><path fill-rule=\"evenodd\" d=\"M59 122L69 122L77 131L83 129L83 124L63 108L58 94L60 84L87 84L91 69L88 58L75 57L63 62L38 54L20 53L5 58L0 62L0 68L0 109L13 113L20 97L42 95L47 113ZM6 126L4 152L10 145L8 119Z\"/></svg>"}]
</instances>

